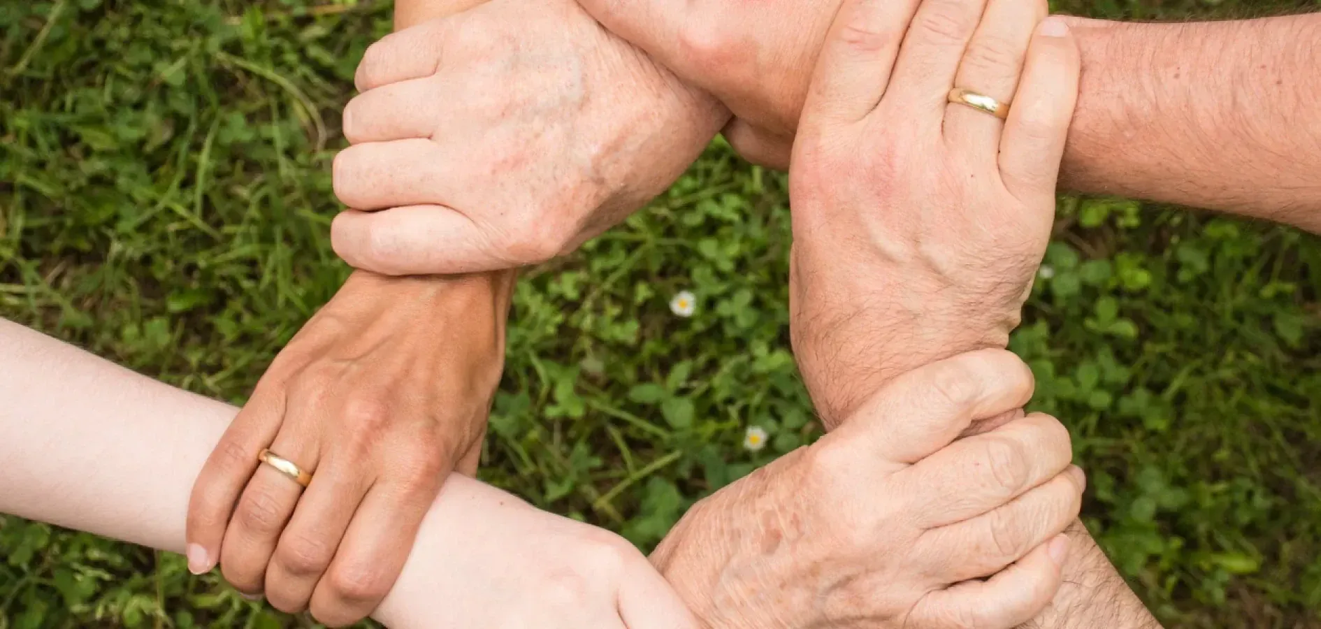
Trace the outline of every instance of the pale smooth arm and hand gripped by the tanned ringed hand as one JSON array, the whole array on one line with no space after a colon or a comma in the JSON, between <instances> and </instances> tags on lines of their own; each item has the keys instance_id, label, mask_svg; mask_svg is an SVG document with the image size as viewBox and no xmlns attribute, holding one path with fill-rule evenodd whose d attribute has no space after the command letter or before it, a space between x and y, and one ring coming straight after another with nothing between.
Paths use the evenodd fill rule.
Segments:
<instances>
[{"instance_id":1,"label":"pale smooth arm and hand gripped by the tanned ringed hand","mask_svg":"<svg viewBox=\"0 0 1321 629\"><path fill-rule=\"evenodd\" d=\"M236 408L5 320L0 370L0 513L184 551L193 478ZM625 539L460 474L428 505L373 617L394 629L697 629Z\"/></svg>"}]
</instances>

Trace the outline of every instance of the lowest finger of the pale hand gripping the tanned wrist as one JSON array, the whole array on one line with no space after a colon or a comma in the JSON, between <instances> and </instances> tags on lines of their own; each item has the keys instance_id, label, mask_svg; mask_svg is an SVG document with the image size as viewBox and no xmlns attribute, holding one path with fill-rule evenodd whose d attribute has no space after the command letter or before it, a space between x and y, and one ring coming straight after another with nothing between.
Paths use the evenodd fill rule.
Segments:
<instances>
[{"instance_id":1,"label":"lowest finger of the pale hand gripping the tanned wrist","mask_svg":"<svg viewBox=\"0 0 1321 629\"><path fill-rule=\"evenodd\" d=\"M517 246L497 246L473 219L443 205L343 211L330 223L330 246L354 268L383 275L472 274L538 262L518 258Z\"/></svg>"}]
</instances>

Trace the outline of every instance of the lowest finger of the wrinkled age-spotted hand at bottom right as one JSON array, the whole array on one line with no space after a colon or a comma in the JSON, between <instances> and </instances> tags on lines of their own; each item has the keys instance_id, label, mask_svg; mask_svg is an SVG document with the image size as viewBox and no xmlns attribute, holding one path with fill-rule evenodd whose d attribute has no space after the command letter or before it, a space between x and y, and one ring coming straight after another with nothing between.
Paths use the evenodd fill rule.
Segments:
<instances>
[{"instance_id":1,"label":"lowest finger of the wrinkled age-spotted hand at bottom right","mask_svg":"<svg viewBox=\"0 0 1321 629\"><path fill-rule=\"evenodd\" d=\"M1018 626L1037 616L1063 583L1069 538L1057 535L985 581L964 581L922 600L921 626Z\"/></svg>"}]
</instances>

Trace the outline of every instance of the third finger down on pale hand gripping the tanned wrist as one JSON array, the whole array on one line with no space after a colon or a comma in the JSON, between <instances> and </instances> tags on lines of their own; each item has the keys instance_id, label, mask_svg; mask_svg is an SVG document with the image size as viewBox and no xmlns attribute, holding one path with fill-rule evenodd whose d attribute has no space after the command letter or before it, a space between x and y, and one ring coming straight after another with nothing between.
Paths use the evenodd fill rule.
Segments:
<instances>
[{"instance_id":1,"label":"third finger down on pale hand gripping the tanned wrist","mask_svg":"<svg viewBox=\"0 0 1321 629\"><path fill-rule=\"evenodd\" d=\"M332 184L339 202L355 210L444 204L454 157L416 137L354 144L336 155Z\"/></svg>"}]
</instances>

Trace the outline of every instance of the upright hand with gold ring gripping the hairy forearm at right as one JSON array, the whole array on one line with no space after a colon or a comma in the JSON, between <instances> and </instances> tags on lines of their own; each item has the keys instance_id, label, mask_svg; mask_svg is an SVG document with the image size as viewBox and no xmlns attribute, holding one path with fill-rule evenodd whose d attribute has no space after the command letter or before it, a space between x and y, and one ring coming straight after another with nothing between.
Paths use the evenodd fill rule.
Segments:
<instances>
[{"instance_id":1,"label":"upright hand with gold ring gripping the hairy forearm at right","mask_svg":"<svg viewBox=\"0 0 1321 629\"><path fill-rule=\"evenodd\" d=\"M827 426L1018 324L1078 91L1074 40L1045 15L1041 0L840 9L789 173L791 338ZM1012 103L1008 120L947 103L955 86Z\"/></svg>"}]
</instances>

